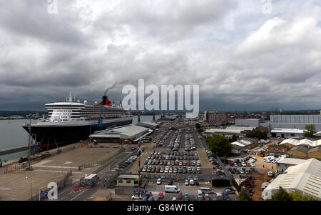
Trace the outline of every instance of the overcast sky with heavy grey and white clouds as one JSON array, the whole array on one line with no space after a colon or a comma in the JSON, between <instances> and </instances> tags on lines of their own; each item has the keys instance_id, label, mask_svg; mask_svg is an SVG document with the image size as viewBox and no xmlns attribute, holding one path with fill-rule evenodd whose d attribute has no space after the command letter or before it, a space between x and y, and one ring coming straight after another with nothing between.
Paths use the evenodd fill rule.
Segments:
<instances>
[{"instance_id":1,"label":"overcast sky with heavy grey and white clouds","mask_svg":"<svg viewBox=\"0 0 321 215\"><path fill-rule=\"evenodd\" d=\"M321 109L319 0L273 0L271 11L261 0L48 6L0 0L0 110L43 110L69 91L93 102L138 79L198 84L201 110Z\"/></svg>"}]
</instances>

